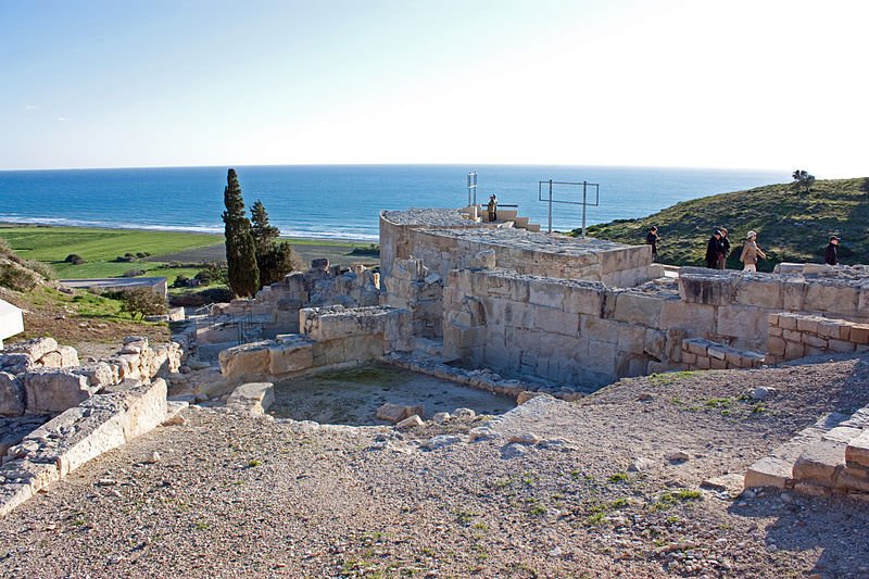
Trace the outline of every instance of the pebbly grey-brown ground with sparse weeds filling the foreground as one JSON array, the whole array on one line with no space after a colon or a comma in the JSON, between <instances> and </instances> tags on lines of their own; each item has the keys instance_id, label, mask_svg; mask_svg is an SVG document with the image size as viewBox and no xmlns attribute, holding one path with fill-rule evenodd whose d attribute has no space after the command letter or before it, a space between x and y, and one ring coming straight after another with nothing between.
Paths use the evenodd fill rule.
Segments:
<instances>
[{"instance_id":1,"label":"pebbly grey-brown ground with sparse weeds filling the foreground","mask_svg":"<svg viewBox=\"0 0 869 579\"><path fill-rule=\"evenodd\" d=\"M758 386L776 392L746 395ZM869 503L727 490L867 403L869 360L840 358L622 380L406 432L190 408L0 520L0 574L869 577Z\"/></svg>"}]
</instances>

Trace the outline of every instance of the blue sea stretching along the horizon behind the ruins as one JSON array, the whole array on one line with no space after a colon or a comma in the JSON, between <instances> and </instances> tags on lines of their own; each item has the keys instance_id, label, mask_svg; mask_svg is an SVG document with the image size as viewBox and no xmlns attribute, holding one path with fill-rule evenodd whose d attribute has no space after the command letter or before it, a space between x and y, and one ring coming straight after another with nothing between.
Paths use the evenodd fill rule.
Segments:
<instances>
[{"instance_id":1,"label":"blue sea stretching along the horizon behind the ruins","mask_svg":"<svg viewBox=\"0 0 869 579\"><path fill-rule=\"evenodd\" d=\"M227 167L0 171L0 222L223 232ZM261 200L281 235L376 240L381 210L459 207L495 193L545 230L540 181L599 184L587 223L641 217L680 201L786 182L790 173L542 165L237 166L247 206ZM595 188L588 187L588 201ZM542 188L549 198L549 185ZM581 186L554 186L553 228L581 225ZM557 203L565 202L565 203Z\"/></svg>"}]
</instances>

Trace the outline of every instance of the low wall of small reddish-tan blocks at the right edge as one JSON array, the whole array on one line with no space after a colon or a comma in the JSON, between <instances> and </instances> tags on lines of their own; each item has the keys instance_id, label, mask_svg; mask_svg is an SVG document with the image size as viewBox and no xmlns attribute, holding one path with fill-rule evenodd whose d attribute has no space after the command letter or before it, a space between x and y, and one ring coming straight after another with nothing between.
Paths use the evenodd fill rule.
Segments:
<instances>
[{"instance_id":1,"label":"low wall of small reddish-tan blocks at the right edge","mask_svg":"<svg viewBox=\"0 0 869 579\"><path fill-rule=\"evenodd\" d=\"M770 363L829 352L869 352L869 324L793 313L769 315Z\"/></svg>"}]
</instances>

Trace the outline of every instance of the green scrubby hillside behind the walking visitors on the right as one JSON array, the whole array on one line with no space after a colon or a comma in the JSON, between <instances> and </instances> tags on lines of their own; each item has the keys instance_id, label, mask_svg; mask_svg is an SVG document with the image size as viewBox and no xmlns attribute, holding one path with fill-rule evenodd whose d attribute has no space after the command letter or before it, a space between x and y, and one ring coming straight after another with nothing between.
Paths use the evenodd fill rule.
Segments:
<instances>
[{"instance_id":1,"label":"green scrubby hillside behind the walking visitors on the right","mask_svg":"<svg viewBox=\"0 0 869 579\"><path fill-rule=\"evenodd\" d=\"M842 238L842 263L869 263L869 177L818 180L809 193L780 184L684 201L647 217L591 226L588 235L638 244L652 225L662 238L659 261L673 265L704 265L706 242L718 227L730 232L728 267L734 269L742 267L739 250L752 229L768 256L760 270L780 262L823 262L831 235Z\"/></svg>"}]
</instances>

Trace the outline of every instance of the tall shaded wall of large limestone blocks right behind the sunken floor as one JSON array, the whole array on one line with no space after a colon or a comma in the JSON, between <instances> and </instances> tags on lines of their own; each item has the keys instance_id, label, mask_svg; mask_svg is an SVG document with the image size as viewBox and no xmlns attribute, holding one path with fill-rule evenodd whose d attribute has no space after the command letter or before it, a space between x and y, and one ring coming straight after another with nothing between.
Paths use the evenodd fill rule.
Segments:
<instances>
[{"instance_id":1,"label":"tall shaded wall of large limestone blocks right behind the sunken floor","mask_svg":"<svg viewBox=\"0 0 869 579\"><path fill-rule=\"evenodd\" d=\"M672 301L600 281L456 270L444 291L443 355L594 388L681 367L685 330L660 329Z\"/></svg>"}]
</instances>

